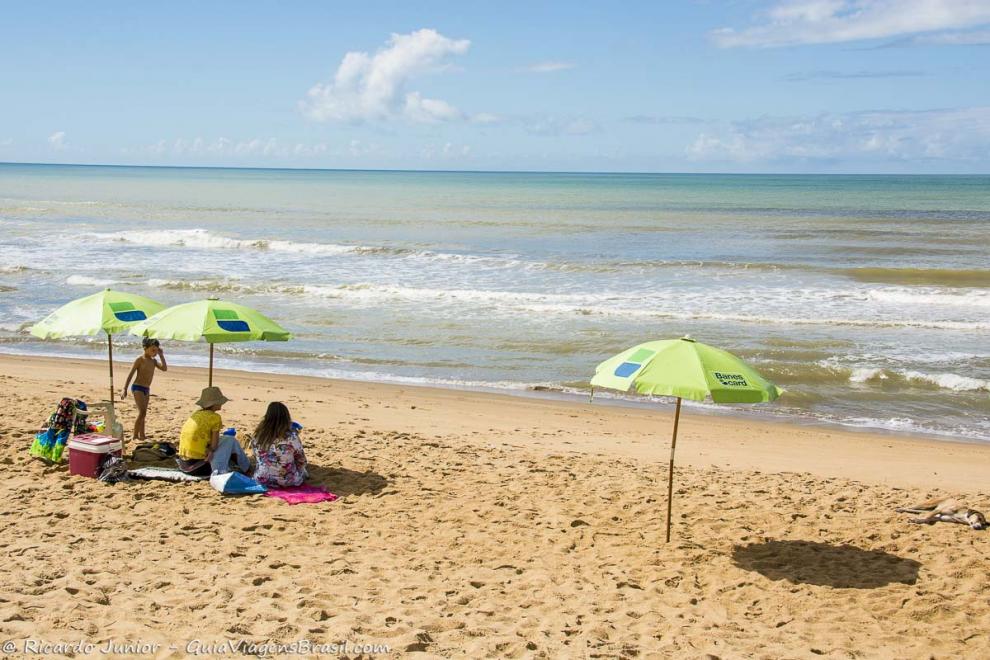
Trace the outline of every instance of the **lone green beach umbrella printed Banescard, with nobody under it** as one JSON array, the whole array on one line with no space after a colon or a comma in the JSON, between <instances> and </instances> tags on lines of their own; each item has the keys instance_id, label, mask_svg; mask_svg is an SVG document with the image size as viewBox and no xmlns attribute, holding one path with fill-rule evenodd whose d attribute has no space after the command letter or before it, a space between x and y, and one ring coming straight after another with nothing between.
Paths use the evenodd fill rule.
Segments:
<instances>
[{"instance_id":1,"label":"lone green beach umbrella printed Banescard, with nobody under it","mask_svg":"<svg viewBox=\"0 0 990 660\"><path fill-rule=\"evenodd\" d=\"M728 351L690 337L639 344L605 360L595 369L595 387L639 394L677 397L667 477L667 542L670 542L671 499L674 494L674 449L681 399L715 403L764 403L783 390Z\"/></svg>"}]
</instances>

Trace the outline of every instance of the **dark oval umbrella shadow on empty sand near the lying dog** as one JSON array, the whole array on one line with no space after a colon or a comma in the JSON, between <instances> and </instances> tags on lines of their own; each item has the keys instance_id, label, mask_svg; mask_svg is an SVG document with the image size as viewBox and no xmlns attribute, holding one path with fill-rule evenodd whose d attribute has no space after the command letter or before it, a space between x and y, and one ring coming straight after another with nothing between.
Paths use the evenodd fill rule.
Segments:
<instances>
[{"instance_id":1,"label":"dark oval umbrella shadow on empty sand near the lying dog","mask_svg":"<svg viewBox=\"0 0 990 660\"><path fill-rule=\"evenodd\" d=\"M914 584L921 563L880 550L813 541L767 541L733 548L742 569L771 580L840 589L877 589L891 583Z\"/></svg>"}]
</instances>

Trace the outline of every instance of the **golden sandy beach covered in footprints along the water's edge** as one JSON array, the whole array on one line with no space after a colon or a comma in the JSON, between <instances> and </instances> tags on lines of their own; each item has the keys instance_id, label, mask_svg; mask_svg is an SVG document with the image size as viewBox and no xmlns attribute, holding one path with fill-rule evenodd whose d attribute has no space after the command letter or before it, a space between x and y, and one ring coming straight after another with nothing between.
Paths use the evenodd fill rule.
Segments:
<instances>
[{"instance_id":1,"label":"golden sandy beach covered in footprints along the water's edge","mask_svg":"<svg viewBox=\"0 0 990 660\"><path fill-rule=\"evenodd\" d=\"M58 399L104 398L105 371L0 358L0 637L17 644L986 655L990 536L894 512L942 493L990 509L985 445L687 410L668 545L669 408L217 372L226 424L247 430L281 400L306 427L312 482L340 499L289 506L205 483L108 486L30 458ZM205 381L158 375L155 439L175 440ZM129 426L133 403L119 411Z\"/></svg>"}]
</instances>

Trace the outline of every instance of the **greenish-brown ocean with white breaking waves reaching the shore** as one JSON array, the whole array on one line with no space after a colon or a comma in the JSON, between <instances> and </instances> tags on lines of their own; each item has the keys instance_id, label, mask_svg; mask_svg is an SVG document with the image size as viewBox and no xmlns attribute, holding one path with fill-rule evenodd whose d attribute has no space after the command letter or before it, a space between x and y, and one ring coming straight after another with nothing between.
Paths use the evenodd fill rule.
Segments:
<instances>
[{"instance_id":1,"label":"greenish-brown ocean with white breaking waves reaching the shore","mask_svg":"<svg viewBox=\"0 0 990 660\"><path fill-rule=\"evenodd\" d=\"M108 286L295 334L218 345L220 368L541 396L690 334L787 390L702 407L990 441L987 176L6 164L0 230L2 352L102 358L27 328Z\"/></svg>"}]
</instances>

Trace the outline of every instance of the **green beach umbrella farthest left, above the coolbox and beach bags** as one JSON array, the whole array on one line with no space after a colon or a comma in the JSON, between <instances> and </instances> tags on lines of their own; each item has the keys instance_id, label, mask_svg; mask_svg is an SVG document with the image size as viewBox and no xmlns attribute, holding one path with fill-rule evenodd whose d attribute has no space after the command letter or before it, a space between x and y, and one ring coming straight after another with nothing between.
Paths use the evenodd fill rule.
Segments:
<instances>
[{"instance_id":1,"label":"green beach umbrella farthest left, above the coolbox and beach bags","mask_svg":"<svg viewBox=\"0 0 990 660\"><path fill-rule=\"evenodd\" d=\"M66 303L31 328L41 339L60 339L106 333L110 363L110 402L113 391L113 335L165 309L165 305L133 293L104 289Z\"/></svg>"}]
</instances>

